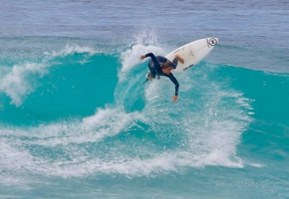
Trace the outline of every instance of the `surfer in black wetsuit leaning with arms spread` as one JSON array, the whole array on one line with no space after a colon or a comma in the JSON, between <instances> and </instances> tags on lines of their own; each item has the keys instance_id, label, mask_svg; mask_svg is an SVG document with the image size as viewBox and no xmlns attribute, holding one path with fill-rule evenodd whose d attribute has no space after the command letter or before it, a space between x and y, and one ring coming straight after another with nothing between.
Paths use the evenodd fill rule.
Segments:
<instances>
[{"instance_id":1,"label":"surfer in black wetsuit leaning with arms spread","mask_svg":"<svg viewBox=\"0 0 289 199\"><path fill-rule=\"evenodd\" d=\"M178 61L180 61L181 63L184 63L183 58L181 58L179 55L175 55L173 62L171 62L166 57L154 56L152 52L149 52L145 55L141 55L140 60L145 59L145 57L151 58L150 62L148 63L149 73L147 76L147 80L152 80L152 78L156 78L156 75L169 77L175 85L175 93L173 96L173 101L176 101L177 95L178 95L179 84L176 78L173 76L172 70L176 68Z\"/></svg>"}]
</instances>

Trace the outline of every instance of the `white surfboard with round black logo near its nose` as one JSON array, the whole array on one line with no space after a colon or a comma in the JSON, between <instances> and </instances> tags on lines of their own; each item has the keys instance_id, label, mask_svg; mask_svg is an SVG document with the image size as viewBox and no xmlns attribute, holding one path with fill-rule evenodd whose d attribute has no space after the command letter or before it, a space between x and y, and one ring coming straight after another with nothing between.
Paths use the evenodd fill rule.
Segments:
<instances>
[{"instance_id":1,"label":"white surfboard with round black logo near its nose","mask_svg":"<svg viewBox=\"0 0 289 199\"><path fill-rule=\"evenodd\" d=\"M177 54L184 59L184 63L178 61L173 71L184 71L200 62L217 45L219 39L214 37L199 39L188 43L166 55L166 58L173 61ZM146 75L147 76L147 75Z\"/></svg>"}]
</instances>

